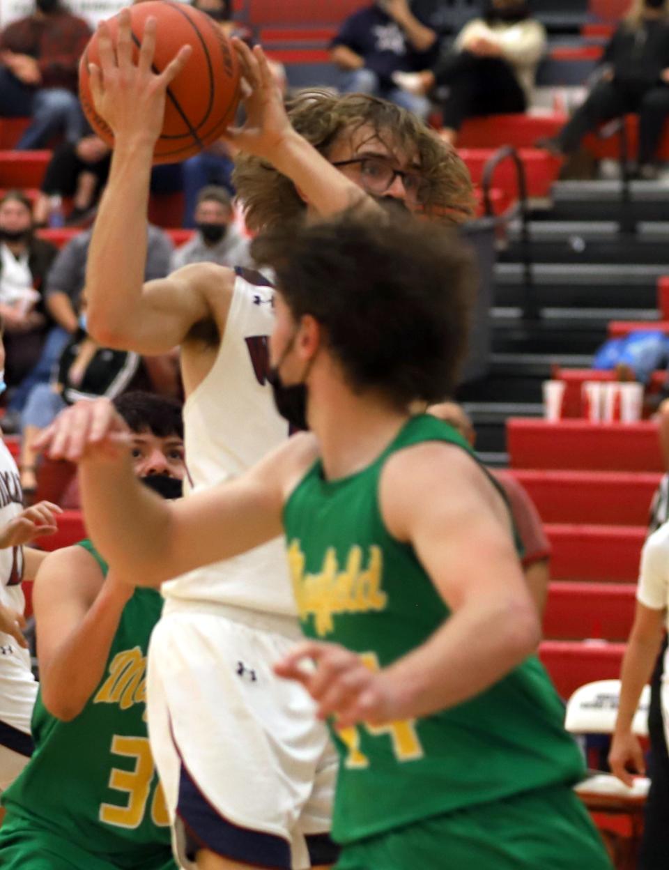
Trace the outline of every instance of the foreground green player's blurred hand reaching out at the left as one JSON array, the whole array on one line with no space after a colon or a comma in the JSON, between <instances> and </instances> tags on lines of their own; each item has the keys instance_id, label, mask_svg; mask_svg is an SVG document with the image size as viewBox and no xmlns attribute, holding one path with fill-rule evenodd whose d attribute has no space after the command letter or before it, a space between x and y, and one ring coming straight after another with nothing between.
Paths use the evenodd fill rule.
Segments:
<instances>
[{"instance_id":1,"label":"foreground green player's blurred hand reaching out at the left","mask_svg":"<svg viewBox=\"0 0 669 870\"><path fill-rule=\"evenodd\" d=\"M77 402L58 414L37 438L36 449L50 459L114 460L128 452L130 429L108 398Z\"/></svg>"}]
</instances>

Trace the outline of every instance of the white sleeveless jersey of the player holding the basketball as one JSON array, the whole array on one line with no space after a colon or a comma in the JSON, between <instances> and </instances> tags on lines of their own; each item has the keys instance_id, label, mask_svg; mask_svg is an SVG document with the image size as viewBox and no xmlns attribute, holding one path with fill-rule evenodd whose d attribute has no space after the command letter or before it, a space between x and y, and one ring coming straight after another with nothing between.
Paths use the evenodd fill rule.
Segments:
<instances>
[{"instance_id":1,"label":"white sleeveless jersey of the player holding the basketball","mask_svg":"<svg viewBox=\"0 0 669 870\"><path fill-rule=\"evenodd\" d=\"M188 492L237 477L288 437L265 381L272 296L271 287L237 277L216 362L184 405ZM162 591L172 609L198 600L296 615L283 539L170 580Z\"/></svg>"}]
</instances>

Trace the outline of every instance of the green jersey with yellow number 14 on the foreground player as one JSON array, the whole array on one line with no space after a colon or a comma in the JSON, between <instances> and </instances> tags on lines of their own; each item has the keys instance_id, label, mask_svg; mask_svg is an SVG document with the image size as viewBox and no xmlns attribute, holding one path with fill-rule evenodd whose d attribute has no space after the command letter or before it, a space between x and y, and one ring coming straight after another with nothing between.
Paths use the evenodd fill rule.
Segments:
<instances>
[{"instance_id":1,"label":"green jersey with yellow number 14 on the foreground player","mask_svg":"<svg viewBox=\"0 0 669 870\"><path fill-rule=\"evenodd\" d=\"M360 653L373 669L425 643L449 618L415 552L391 537L378 506L387 458L425 441L468 450L450 426L429 416L411 418L362 472L328 482L318 461L284 510L304 633ZM585 772L563 715L532 657L476 698L441 713L333 729L341 761L335 839L346 843L431 815L572 784Z\"/></svg>"}]
</instances>

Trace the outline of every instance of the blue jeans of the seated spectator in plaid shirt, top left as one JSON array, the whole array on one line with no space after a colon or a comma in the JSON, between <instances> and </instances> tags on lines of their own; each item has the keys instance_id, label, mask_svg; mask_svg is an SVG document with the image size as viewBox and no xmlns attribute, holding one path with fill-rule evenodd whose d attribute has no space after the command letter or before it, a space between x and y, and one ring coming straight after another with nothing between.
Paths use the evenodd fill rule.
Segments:
<instances>
[{"instance_id":1,"label":"blue jeans of the seated spectator in plaid shirt, top left","mask_svg":"<svg viewBox=\"0 0 669 870\"><path fill-rule=\"evenodd\" d=\"M65 88L29 88L6 67L0 67L0 115L32 117L17 151L42 148L57 133L63 133L68 142L77 142L86 128L76 94Z\"/></svg>"}]
</instances>

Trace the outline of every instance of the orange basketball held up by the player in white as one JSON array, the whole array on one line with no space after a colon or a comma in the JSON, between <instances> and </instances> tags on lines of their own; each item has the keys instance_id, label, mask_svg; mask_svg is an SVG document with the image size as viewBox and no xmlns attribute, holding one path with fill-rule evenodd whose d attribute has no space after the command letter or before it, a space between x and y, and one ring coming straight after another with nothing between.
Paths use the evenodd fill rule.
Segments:
<instances>
[{"instance_id":1,"label":"orange basketball held up by the player in white","mask_svg":"<svg viewBox=\"0 0 669 870\"><path fill-rule=\"evenodd\" d=\"M163 131L153 157L155 164L177 163L214 142L234 120L239 101L237 54L218 24L186 3L149 0L130 6L129 11L135 62L144 23L151 16L157 19L154 71L162 72L182 45L192 46L191 57L167 90ZM107 23L115 40L117 17ZM79 64L79 97L93 130L113 147L113 133L93 104L90 63L100 64L97 33L91 37Z\"/></svg>"}]
</instances>

